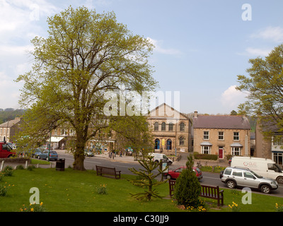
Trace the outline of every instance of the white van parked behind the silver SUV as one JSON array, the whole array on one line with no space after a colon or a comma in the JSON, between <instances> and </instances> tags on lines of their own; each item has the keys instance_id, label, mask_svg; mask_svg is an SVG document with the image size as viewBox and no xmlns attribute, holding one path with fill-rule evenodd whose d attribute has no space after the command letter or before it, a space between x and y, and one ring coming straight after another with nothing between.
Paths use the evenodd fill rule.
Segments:
<instances>
[{"instance_id":1,"label":"white van parked behind the silver SUV","mask_svg":"<svg viewBox=\"0 0 283 226\"><path fill-rule=\"evenodd\" d=\"M279 184L283 184L282 170L273 160L261 157L233 156L231 167L246 167L262 177L276 179Z\"/></svg>"}]
</instances>

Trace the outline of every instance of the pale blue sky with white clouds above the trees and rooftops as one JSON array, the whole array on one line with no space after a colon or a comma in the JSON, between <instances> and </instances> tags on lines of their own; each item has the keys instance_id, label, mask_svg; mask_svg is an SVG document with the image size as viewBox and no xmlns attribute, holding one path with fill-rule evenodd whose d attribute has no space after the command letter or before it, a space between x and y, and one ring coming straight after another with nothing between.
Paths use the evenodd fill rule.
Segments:
<instances>
[{"instance_id":1,"label":"pale blue sky with white clouds above the trees and rooftops","mask_svg":"<svg viewBox=\"0 0 283 226\"><path fill-rule=\"evenodd\" d=\"M246 75L248 59L265 57L283 42L279 0L0 0L0 108L18 108L23 84L13 80L33 62L30 40L47 37L47 16L69 5L114 11L118 22L149 38L156 46L150 64L159 90L179 91L184 113L237 110L245 101L235 90L237 75Z\"/></svg>"}]
</instances>

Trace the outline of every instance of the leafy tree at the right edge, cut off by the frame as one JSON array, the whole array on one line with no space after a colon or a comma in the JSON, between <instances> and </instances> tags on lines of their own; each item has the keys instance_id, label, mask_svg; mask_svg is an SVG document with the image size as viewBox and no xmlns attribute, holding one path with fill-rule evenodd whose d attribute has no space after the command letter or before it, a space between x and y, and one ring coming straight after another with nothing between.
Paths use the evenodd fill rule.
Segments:
<instances>
[{"instance_id":1,"label":"leafy tree at the right edge, cut off by the frame","mask_svg":"<svg viewBox=\"0 0 283 226\"><path fill-rule=\"evenodd\" d=\"M283 44L262 59L250 59L249 76L238 76L237 89L248 94L238 108L255 115L265 125L266 135L283 131Z\"/></svg>"}]
</instances>

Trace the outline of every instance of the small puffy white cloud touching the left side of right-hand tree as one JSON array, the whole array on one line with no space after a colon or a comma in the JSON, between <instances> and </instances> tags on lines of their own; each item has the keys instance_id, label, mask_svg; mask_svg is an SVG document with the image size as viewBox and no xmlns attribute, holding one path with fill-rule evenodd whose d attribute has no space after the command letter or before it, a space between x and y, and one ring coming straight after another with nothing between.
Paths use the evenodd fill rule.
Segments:
<instances>
[{"instance_id":1,"label":"small puffy white cloud touching the left side of right-hand tree","mask_svg":"<svg viewBox=\"0 0 283 226\"><path fill-rule=\"evenodd\" d=\"M239 90L236 90L236 85L231 85L224 93L221 94L221 103L225 107L237 109L238 105L245 102L247 95Z\"/></svg>"}]
</instances>

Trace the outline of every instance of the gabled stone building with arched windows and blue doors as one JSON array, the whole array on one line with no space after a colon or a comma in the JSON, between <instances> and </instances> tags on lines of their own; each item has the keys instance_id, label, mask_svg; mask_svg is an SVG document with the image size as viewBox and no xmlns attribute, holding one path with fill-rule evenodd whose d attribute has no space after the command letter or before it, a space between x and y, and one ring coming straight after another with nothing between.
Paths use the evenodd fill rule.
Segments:
<instances>
[{"instance_id":1,"label":"gabled stone building with arched windows and blue doors","mask_svg":"<svg viewBox=\"0 0 283 226\"><path fill-rule=\"evenodd\" d=\"M185 114L163 103L147 116L157 152L192 151L192 121Z\"/></svg>"}]
</instances>

